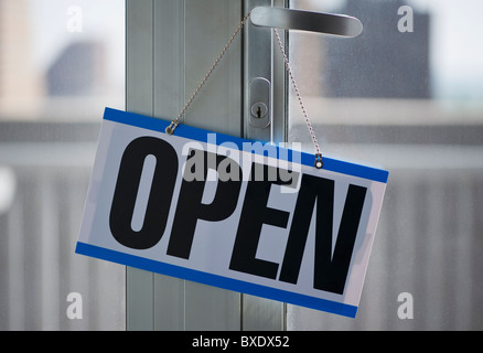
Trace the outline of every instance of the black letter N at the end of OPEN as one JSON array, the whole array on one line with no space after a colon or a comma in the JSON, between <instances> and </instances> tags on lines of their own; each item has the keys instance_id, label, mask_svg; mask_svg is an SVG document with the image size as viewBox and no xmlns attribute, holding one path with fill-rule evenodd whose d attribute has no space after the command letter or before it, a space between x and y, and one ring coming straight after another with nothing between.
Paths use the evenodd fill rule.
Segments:
<instances>
[{"instance_id":1,"label":"black letter N at the end of OPEN","mask_svg":"<svg viewBox=\"0 0 483 353\"><path fill-rule=\"evenodd\" d=\"M313 287L339 295L344 292L366 191L367 189L363 186L348 185L332 255L334 182L323 178L303 175L280 272L279 279L281 281L290 284L298 281L316 201Z\"/></svg>"}]
</instances>

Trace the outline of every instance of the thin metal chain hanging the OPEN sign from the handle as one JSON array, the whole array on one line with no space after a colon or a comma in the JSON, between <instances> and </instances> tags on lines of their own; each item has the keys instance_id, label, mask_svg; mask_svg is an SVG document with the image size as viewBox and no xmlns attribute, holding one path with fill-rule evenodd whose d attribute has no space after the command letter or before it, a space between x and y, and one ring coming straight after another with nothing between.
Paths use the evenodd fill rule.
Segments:
<instances>
[{"instance_id":1,"label":"thin metal chain hanging the OPEN sign from the handle","mask_svg":"<svg viewBox=\"0 0 483 353\"><path fill-rule=\"evenodd\" d=\"M233 41L235 40L235 38L238 35L238 33L242 31L242 29L245 26L245 23L247 22L248 18L250 17L250 12L248 12L245 18L242 20L242 22L239 23L238 28L236 29L236 31L233 33L232 38L228 40L228 43L226 43L225 47L222 50L222 52L219 53L218 57L216 57L215 62L213 63L212 67L210 68L210 71L207 72L207 74L205 75L205 77L202 79L202 82L200 83L200 85L197 86L197 88L195 89L195 92L193 93L193 95L191 96L191 98L187 100L187 103L185 104L185 106L183 107L183 109L181 109L180 114L178 115L176 118L174 118L171 124L167 127L165 132L168 135L173 135L174 130L176 129L178 125L180 125L180 119L181 117L184 115L184 113L186 111L186 109L190 107L190 105L193 103L194 98L197 96L197 94L200 93L200 90L202 89L203 85L206 83L206 81L210 78L210 76L212 75L213 71L216 68L216 66L218 65L218 63L221 62L221 60L223 58L223 56L225 55L226 51L228 50L228 47L232 45ZM307 128L309 129L310 132L310 137L312 138L313 145L315 147L315 167L321 169L323 167L322 163L322 153L320 151L320 146L319 142L316 140L315 137L315 132L313 131L312 128L312 124L310 122L309 119L309 115L307 114L307 109L305 106L303 105L303 100L302 100L302 96L300 95L299 92L299 87L297 86L297 82L296 78L293 76L292 69L290 67L290 63L289 60L287 57L287 53L283 49L283 44L280 40L280 34L278 33L277 29L273 29L273 33L275 36L277 38L277 42L278 45L280 47L280 51L283 55L283 61L286 64L286 68L287 72L289 73L290 76L290 81L292 82L293 85L293 89L296 92L296 96L297 99L299 100L300 107L302 108L302 113L303 113L303 117L305 119L305 125Z\"/></svg>"}]
</instances>

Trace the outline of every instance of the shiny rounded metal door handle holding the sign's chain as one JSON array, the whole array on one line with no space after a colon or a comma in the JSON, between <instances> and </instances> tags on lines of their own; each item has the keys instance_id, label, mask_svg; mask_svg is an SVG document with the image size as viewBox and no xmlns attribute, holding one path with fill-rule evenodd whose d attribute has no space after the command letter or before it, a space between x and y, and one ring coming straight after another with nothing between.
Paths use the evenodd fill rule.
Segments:
<instances>
[{"instance_id":1,"label":"shiny rounded metal door handle holding the sign's chain","mask_svg":"<svg viewBox=\"0 0 483 353\"><path fill-rule=\"evenodd\" d=\"M253 24L259 26L342 36L357 36L363 31L361 21L350 15L269 7L257 7L253 9L250 21Z\"/></svg>"}]
</instances>

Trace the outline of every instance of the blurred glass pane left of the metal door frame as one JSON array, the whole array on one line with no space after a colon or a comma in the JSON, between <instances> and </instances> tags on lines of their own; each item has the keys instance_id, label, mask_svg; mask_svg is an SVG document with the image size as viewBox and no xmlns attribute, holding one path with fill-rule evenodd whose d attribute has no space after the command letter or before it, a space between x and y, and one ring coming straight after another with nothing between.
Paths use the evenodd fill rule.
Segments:
<instances>
[{"instance_id":1,"label":"blurred glass pane left of the metal door frame","mask_svg":"<svg viewBox=\"0 0 483 353\"><path fill-rule=\"evenodd\" d=\"M124 53L124 0L0 0L0 330L126 327L125 268L74 254Z\"/></svg>"}]
</instances>

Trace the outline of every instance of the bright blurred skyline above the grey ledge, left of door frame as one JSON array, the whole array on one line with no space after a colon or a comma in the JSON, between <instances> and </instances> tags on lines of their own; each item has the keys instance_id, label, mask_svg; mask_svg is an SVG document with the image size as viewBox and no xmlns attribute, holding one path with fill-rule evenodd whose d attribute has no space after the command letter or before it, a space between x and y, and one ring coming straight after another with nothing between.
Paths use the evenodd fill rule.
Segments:
<instances>
[{"instance_id":1,"label":"bright blurred skyline above the grey ledge, left of door frame","mask_svg":"<svg viewBox=\"0 0 483 353\"><path fill-rule=\"evenodd\" d=\"M124 1L0 1L0 120L124 108Z\"/></svg>"}]
</instances>

